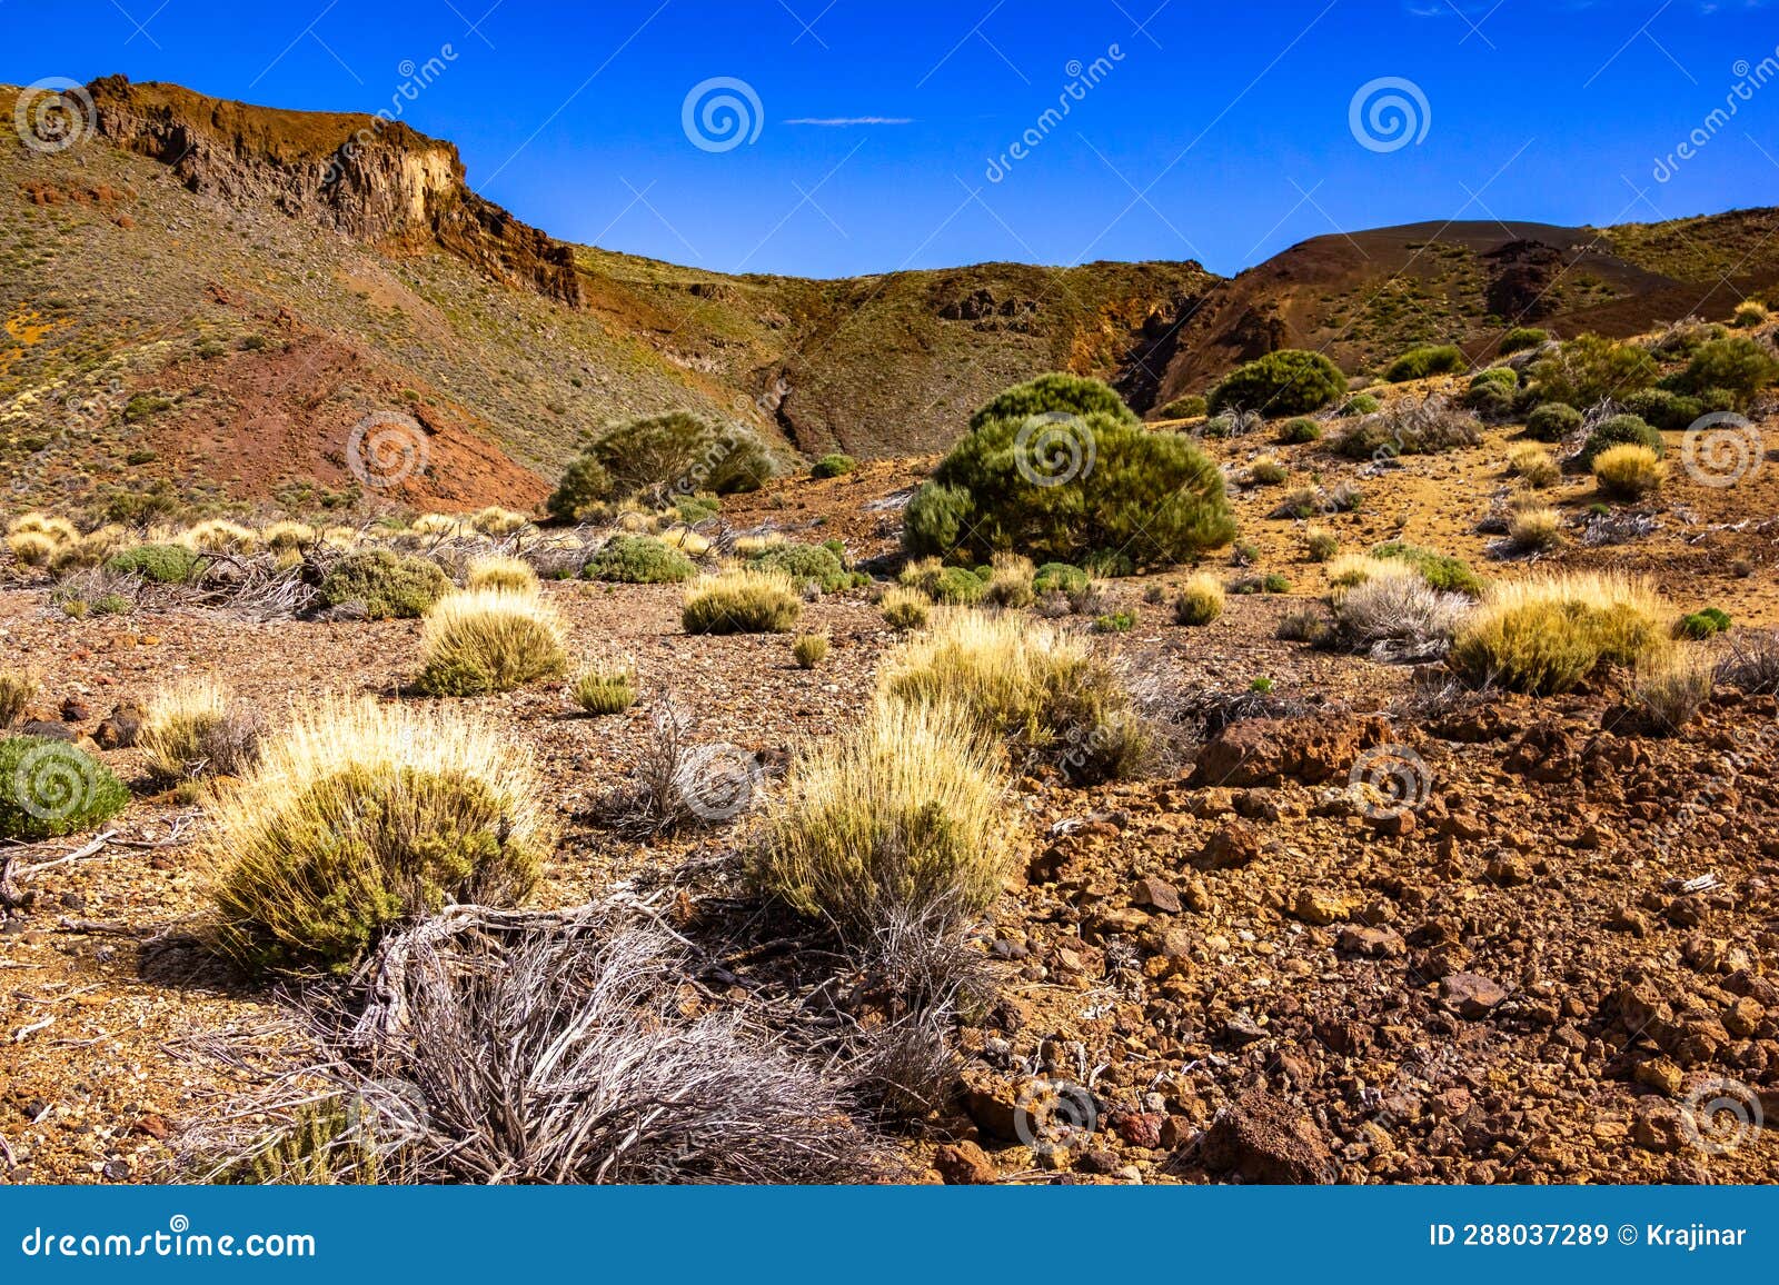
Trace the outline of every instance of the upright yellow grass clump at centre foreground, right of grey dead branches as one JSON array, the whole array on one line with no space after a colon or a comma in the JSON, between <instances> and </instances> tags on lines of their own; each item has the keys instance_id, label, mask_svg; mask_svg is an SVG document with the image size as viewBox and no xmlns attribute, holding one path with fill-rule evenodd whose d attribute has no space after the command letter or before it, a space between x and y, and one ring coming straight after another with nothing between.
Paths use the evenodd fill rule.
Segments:
<instances>
[{"instance_id":1,"label":"upright yellow grass clump at centre foreground, right of grey dead branches","mask_svg":"<svg viewBox=\"0 0 1779 1285\"><path fill-rule=\"evenodd\" d=\"M1010 870L1007 780L970 715L890 699L793 762L760 860L763 886L868 942L895 913L980 913Z\"/></svg>"}]
</instances>

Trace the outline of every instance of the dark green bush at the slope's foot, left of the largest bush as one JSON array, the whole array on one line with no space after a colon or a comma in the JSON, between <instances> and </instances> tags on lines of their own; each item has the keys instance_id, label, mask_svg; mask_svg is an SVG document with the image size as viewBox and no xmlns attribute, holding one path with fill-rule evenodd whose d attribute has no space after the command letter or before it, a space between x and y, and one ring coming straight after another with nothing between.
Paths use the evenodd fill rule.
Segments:
<instances>
[{"instance_id":1,"label":"dark green bush at the slope's foot, left of the largest bush","mask_svg":"<svg viewBox=\"0 0 1779 1285\"><path fill-rule=\"evenodd\" d=\"M600 432L568 466L546 507L555 518L573 520L607 500L640 497L664 505L699 491L758 491L772 473L772 454L751 429L667 411Z\"/></svg>"}]
</instances>

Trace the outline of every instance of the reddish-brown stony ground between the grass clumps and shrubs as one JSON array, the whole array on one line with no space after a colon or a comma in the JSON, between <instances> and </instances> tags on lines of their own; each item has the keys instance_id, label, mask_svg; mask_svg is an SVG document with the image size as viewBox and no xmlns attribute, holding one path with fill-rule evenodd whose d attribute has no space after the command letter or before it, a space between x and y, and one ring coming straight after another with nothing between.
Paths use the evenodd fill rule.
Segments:
<instances>
[{"instance_id":1,"label":"reddish-brown stony ground between the grass clumps and shrubs","mask_svg":"<svg viewBox=\"0 0 1779 1285\"><path fill-rule=\"evenodd\" d=\"M1240 447L1219 449L1238 463ZM1517 573L1469 530L1500 484L1498 456L1493 441L1468 465L1368 477L1375 504L1331 525L1359 548L1407 511L1409 539ZM1327 457L1311 466L1325 481L1357 472ZM893 548L898 514L886 500L918 473L886 463L793 481L726 516L840 536L868 559ZM1585 502L1583 486L1571 504ZM1772 498L1678 482L1658 534L1560 561L1654 568L1676 603L1772 625L1774 548L1759 516L1779 509ZM1646 735L1612 682L1411 712L1411 671L1274 639L1277 619L1322 591L1320 568L1299 561L1290 523L1261 516L1268 497L1238 504L1260 568L1288 573L1293 594L1231 596L1222 619L1187 630L1144 598L1178 577L1124 580L1112 602L1139 623L1094 644L1160 694L1162 710L1171 692L1244 691L1265 676L1290 717L1187 742L1153 780L1019 781L1021 874L980 931L1003 998L961 1030L952 1102L906 1141L911 1173L1779 1178L1775 1130L1697 1127L1711 1100L1779 1121L1774 699L1720 691L1672 737ZM576 651L617 642L635 653L644 692L608 719L571 715L550 685L468 701L530 746L557 790L564 838L539 893L546 906L720 863L751 842L758 817L660 844L596 822L656 701L690 712L697 739L758 755L770 780L793 746L857 717L895 642L865 589L806 607L804 625L834 641L815 671L792 664L783 637L687 637L669 586L546 593ZM395 698L418 664L413 621L253 623L208 610L73 621L46 587L21 582L0 591L0 644L9 666L44 680L34 715L84 735L183 673L226 678L276 723L322 692ZM162 1176L183 1123L238 1087L194 1041L276 1016L270 991L203 947L205 872L190 847L201 812L149 794L135 751L103 756L139 787L114 840L34 870L30 904L0 925L0 1175L11 1182ZM1354 794L1356 772L1395 772L1413 787L1407 806ZM28 861L80 845L41 845ZM717 902L706 911L699 881L687 888L678 915L694 931ZM735 984L774 966L738 963ZM1034 1096L1046 1084L1062 1095L1048 1116L1048 1098ZM1075 1086L1085 1096L1069 1096ZM1034 1118L1050 1123L1023 1137ZM1062 1128L1067 1119L1082 1128Z\"/></svg>"}]
</instances>

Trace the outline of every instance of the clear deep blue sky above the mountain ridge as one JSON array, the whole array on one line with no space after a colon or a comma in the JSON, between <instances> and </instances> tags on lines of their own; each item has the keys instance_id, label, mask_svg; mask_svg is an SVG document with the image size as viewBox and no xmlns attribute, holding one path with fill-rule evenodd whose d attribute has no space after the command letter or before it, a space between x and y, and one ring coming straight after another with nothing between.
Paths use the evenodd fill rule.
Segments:
<instances>
[{"instance_id":1,"label":"clear deep blue sky above the mountain ridge","mask_svg":"<svg viewBox=\"0 0 1779 1285\"><path fill-rule=\"evenodd\" d=\"M0 0L0 30L5 82L294 109L377 110L436 59L402 116L473 187L720 271L1235 272L1336 230L1779 203L1779 73L1754 84L1779 5L1754 0ZM701 125L712 94L749 117L735 146L720 110ZM1370 121L1379 96L1411 139L1388 103Z\"/></svg>"}]
</instances>

